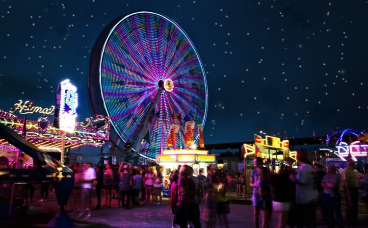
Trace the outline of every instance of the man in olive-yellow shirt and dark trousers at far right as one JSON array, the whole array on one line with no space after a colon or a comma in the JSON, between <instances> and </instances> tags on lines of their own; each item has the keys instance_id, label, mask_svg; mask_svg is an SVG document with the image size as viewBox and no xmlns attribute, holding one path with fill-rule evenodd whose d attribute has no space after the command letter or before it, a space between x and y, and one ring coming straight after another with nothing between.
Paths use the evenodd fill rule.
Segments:
<instances>
[{"instance_id":1,"label":"man in olive-yellow shirt and dark trousers at far right","mask_svg":"<svg viewBox=\"0 0 368 228\"><path fill-rule=\"evenodd\" d=\"M345 193L345 220L351 227L358 225L358 188L359 182L355 172L355 161L347 160L347 167L342 172Z\"/></svg>"}]
</instances>

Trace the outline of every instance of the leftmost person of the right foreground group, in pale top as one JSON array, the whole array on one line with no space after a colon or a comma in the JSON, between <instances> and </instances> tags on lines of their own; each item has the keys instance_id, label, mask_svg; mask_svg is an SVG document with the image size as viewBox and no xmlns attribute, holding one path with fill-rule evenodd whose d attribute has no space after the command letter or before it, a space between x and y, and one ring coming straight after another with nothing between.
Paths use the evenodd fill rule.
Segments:
<instances>
[{"instance_id":1,"label":"leftmost person of the right foreground group, in pale top","mask_svg":"<svg viewBox=\"0 0 368 228\"><path fill-rule=\"evenodd\" d=\"M253 188L252 205L253 205L253 227L260 227L260 195L258 191L260 170L263 167L263 159L261 157L256 157L253 160L254 170L250 173L250 183L249 185Z\"/></svg>"}]
</instances>

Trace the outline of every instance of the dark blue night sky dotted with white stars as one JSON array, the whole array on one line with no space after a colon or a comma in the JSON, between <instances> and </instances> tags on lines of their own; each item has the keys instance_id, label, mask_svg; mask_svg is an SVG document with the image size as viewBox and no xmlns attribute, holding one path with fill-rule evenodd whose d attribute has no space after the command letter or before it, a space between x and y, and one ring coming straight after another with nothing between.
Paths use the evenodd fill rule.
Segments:
<instances>
[{"instance_id":1,"label":"dark blue night sky dotted with white stars","mask_svg":"<svg viewBox=\"0 0 368 228\"><path fill-rule=\"evenodd\" d=\"M94 43L141 10L173 19L199 52L206 144L250 141L256 129L296 138L368 126L366 0L1 0L0 109L19 99L51 106L69 78L79 121L93 116Z\"/></svg>"}]
</instances>

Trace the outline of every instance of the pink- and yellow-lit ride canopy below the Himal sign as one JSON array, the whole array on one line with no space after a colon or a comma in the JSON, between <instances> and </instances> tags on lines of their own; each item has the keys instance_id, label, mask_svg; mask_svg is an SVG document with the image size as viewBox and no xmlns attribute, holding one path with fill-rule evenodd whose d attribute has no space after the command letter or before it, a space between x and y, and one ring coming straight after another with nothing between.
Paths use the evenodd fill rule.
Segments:
<instances>
[{"instance_id":1,"label":"pink- and yellow-lit ride canopy below the Himal sign","mask_svg":"<svg viewBox=\"0 0 368 228\"><path fill-rule=\"evenodd\" d=\"M109 117L97 115L95 118L86 118L84 123L77 123L72 133L65 134L64 148L73 149L83 145L102 147L105 141L109 139L109 120ZM24 123L25 121L26 123ZM23 132L23 127L26 127L24 138L29 142L45 151L61 151L62 132L60 129L53 127L47 115L41 115L37 121L33 121L0 110L0 125L7 126L19 134ZM1 137L0 149L2 152L17 150Z\"/></svg>"}]
</instances>

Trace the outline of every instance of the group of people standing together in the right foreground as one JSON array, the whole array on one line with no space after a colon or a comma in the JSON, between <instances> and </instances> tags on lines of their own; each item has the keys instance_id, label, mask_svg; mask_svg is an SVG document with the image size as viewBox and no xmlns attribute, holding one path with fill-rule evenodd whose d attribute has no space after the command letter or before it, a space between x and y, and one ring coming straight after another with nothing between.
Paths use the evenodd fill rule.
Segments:
<instances>
[{"instance_id":1,"label":"group of people standing together in the right foreground","mask_svg":"<svg viewBox=\"0 0 368 228\"><path fill-rule=\"evenodd\" d=\"M347 167L339 173L334 165L324 167L308 161L307 153L297 153L298 169L281 166L272 174L264 167L263 158L256 157L251 172L250 186L253 187L253 223L269 228L272 213L277 215L277 228L314 228L316 226L317 207L321 212L322 223L328 228L357 226L358 218L358 177L355 162L347 160ZM368 165L365 166L364 183L368 190ZM342 192L345 198L345 219L342 216ZM367 199L367 196L366 196Z\"/></svg>"}]
</instances>

